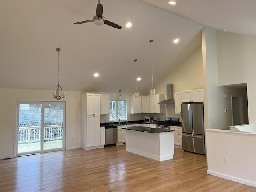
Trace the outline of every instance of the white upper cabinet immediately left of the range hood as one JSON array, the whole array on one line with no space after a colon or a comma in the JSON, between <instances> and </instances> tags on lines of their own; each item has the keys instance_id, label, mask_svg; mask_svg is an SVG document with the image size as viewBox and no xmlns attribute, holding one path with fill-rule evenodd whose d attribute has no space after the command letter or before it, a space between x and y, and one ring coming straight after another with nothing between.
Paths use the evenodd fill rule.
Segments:
<instances>
[{"instance_id":1,"label":"white upper cabinet immediately left of the range hood","mask_svg":"<svg viewBox=\"0 0 256 192\"><path fill-rule=\"evenodd\" d=\"M150 113L164 113L165 105L158 104L164 100L164 95L150 95L149 96L149 110Z\"/></svg>"}]
</instances>

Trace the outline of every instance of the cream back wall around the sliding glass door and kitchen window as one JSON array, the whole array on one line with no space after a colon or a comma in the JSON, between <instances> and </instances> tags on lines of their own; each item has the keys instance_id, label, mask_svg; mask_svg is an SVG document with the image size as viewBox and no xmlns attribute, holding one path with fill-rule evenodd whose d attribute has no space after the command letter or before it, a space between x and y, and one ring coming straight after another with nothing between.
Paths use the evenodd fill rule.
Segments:
<instances>
[{"instance_id":1,"label":"cream back wall around the sliding glass door and kitchen window","mask_svg":"<svg viewBox=\"0 0 256 192\"><path fill-rule=\"evenodd\" d=\"M84 92L66 91L66 149L80 148L80 95ZM110 99L118 93L110 94ZM129 106L129 95L122 94ZM52 90L22 90L0 88L0 159L11 158L14 154L15 101L56 101ZM146 114L129 114L128 120L144 120ZM108 118L108 116L106 117ZM73 138L73 140L72 140Z\"/></svg>"}]
</instances>

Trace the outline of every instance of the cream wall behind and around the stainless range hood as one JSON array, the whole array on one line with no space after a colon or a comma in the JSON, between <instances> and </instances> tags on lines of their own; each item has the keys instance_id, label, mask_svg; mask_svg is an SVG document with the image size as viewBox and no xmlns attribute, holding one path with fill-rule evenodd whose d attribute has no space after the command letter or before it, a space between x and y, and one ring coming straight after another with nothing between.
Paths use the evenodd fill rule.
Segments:
<instances>
[{"instance_id":1,"label":"cream wall behind and around the stainless range hood","mask_svg":"<svg viewBox=\"0 0 256 192\"><path fill-rule=\"evenodd\" d=\"M166 98L167 84L174 84L174 92L203 88L202 47L194 50L188 58L178 64L168 76L155 86L156 94L164 94L164 98ZM160 120L164 121L165 116L181 118L180 114L175 114L174 104L166 104L165 108L165 114L158 115Z\"/></svg>"}]
</instances>

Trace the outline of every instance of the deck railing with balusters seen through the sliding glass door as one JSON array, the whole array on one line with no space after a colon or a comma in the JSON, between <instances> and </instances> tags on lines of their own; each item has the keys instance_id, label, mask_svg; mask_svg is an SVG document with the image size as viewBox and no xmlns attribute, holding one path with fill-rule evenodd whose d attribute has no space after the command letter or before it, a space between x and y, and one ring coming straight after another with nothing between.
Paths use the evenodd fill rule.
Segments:
<instances>
[{"instance_id":1,"label":"deck railing with balusters seen through the sliding glass door","mask_svg":"<svg viewBox=\"0 0 256 192\"><path fill-rule=\"evenodd\" d=\"M41 126L20 127L19 128L19 144L31 142L40 142ZM62 125L44 126L44 141L60 140L63 137Z\"/></svg>"}]
</instances>

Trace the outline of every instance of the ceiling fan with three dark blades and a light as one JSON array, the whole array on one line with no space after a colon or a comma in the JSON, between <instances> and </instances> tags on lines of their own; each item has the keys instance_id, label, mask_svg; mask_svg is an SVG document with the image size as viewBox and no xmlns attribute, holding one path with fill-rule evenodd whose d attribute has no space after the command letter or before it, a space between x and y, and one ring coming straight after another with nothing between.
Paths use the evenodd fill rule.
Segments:
<instances>
[{"instance_id":1,"label":"ceiling fan with three dark blades and a light","mask_svg":"<svg viewBox=\"0 0 256 192\"><path fill-rule=\"evenodd\" d=\"M100 4L100 0L99 3L97 4L97 9L96 9L96 15L93 17L92 20L86 20L86 21L80 21L77 23L74 23L75 25L77 24L82 24L82 23L88 23L88 22L94 22L96 25L103 25L103 24L107 24L111 27L117 28L117 29L122 29L121 26L119 26L118 24L115 24L111 21L105 20L105 17L102 16L103 14L103 6L102 4Z\"/></svg>"}]
</instances>

